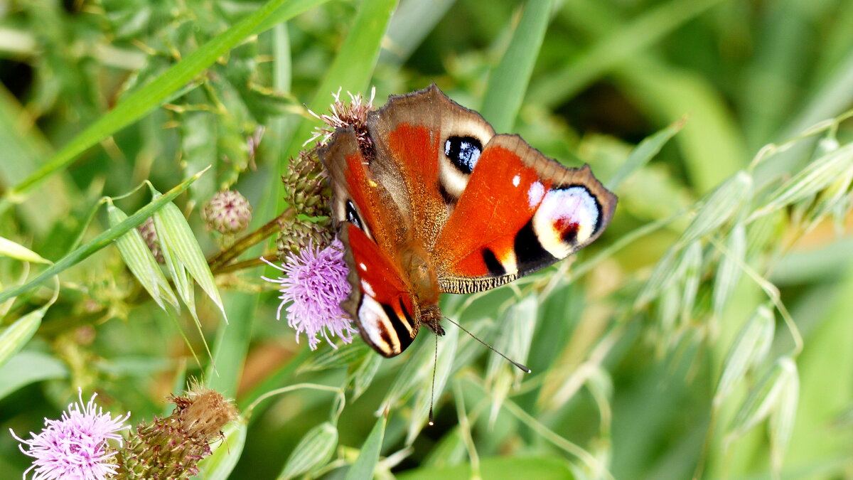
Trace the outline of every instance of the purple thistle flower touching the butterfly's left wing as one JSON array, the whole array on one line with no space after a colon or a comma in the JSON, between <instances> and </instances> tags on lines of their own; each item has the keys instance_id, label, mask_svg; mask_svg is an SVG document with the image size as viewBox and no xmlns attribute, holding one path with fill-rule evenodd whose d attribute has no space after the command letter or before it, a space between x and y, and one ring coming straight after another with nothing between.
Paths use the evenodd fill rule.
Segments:
<instances>
[{"instance_id":1,"label":"purple thistle flower touching the butterfly's left wing","mask_svg":"<svg viewBox=\"0 0 853 480\"><path fill-rule=\"evenodd\" d=\"M287 325L296 329L296 342L303 331L308 337L308 346L314 350L320 342L320 334L329 345L337 348L329 334L340 337L345 343L352 342L352 322L340 308L340 302L350 295L350 284L346 280L349 269L344 262L344 244L335 238L325 249L310 244L299 254L288 254L282 266L264 259L268 265L284 272L286 277L264 278L280 284L281 305L276 319L281 319L281 308L287 307Z\"/></svg>"}]
</instances>

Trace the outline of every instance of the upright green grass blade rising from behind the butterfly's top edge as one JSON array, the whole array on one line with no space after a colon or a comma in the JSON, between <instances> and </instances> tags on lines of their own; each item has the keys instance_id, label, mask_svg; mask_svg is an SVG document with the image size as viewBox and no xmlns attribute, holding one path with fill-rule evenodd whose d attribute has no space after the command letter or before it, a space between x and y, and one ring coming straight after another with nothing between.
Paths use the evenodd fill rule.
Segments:
<instances>
[{"instance_id":1,"label":"upright green grass blade rising from behind the butterfly's top edge","mask_svg":"<svg viewBox=\"0 0 853 480\"><path fill-rule=\"evenodd\" d=\"M501 62L491 72L480 114L491 123L495 132L513 129L545 38L553 5L553 0L529 0L525 3L513 39Z\"/></svg>"}]
</instances>

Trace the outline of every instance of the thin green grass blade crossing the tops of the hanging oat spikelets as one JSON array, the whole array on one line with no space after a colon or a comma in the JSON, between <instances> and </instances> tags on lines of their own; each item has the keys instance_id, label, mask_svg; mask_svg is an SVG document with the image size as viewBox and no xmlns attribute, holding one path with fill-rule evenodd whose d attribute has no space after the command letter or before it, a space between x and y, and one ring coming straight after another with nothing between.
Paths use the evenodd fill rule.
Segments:
<instances>
[{"instance_id":1,"label":"thin green grass blade crossing the tops of the hanging oat spikelets","mask_svg":"<svg viewBox=\"0 0 853 480\"><path fill-rule=\"evenodd\" d=\"M41 272L36 278L33 278L26 284L19 285L9 290L3 290L0 292L0 302L6 301L14 296L19 296L26 290L30 290L33 287L42 284L44 280L64 272L67 268L77 265L79 262L83 261L98 250L103 249L110 243L113 243L127 231L130 231L131 228L136 228L137 226L142 225L142 222L153 215L154 212L162 208L166 203L171 202L176 196L181 195L183 190L187 190L189 185L198 179L202 173L205 173L205 171L196 173L189 179L184 180L181 184L178 184L175 188L167 191L160 198L148 203L145 207L136 210L136 213L128 217L127 220L119 223L119 225L110 227L107 231L104 231L95 237L91 242L78 247L78 249L74 249L73 252L62 257L59 261L46 268L44 272Z\"/></svg>"}]
</instances>

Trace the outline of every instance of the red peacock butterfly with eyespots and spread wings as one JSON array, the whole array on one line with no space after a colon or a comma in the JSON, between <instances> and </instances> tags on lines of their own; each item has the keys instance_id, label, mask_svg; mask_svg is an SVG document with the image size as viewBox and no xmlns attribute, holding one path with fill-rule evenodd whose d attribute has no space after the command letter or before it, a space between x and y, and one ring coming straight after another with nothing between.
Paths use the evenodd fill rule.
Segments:
<instances>
[{"instance_id":1,"label":"red peacock butterfly with eyespots and spread wings","mask_svg":"<svg viewBox=\"0 0 853 480\"><path fill-rule=\"evenodd\" d=\"M421 325L444 334L442 293L490 290L583 249L617 198L589 166L563 167L432 84L389 97L366 132L318 155L352 290L341 307L393 357Z\"/></svg>"}]
</instances>

